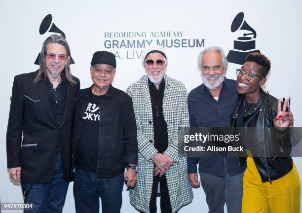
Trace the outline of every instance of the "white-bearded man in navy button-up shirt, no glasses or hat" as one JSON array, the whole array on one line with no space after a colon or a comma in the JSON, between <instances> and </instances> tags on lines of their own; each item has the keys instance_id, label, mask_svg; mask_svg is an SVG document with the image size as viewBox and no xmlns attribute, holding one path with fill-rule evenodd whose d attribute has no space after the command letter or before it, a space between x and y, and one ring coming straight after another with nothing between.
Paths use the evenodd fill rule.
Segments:
<instances>
[{"instance_id":1,"label":"white-bearded man in navy button-up shirt, no glasses or hat","mask_svg":"<svg viewBox=\"0 0 302 213\"><path fill-rule=\"evenodd\" d=\"M220 47L208 47L198 56L203 84L188 96L190 127L229 127L228 117L237 105L237 83L225 78L227 58ZM198 182L196 164L199 164ZM242 178L246 165L239 167L236 157L189 157L189 180L202 185L209 213L240 213Z\"/></svg>"}]
</instances>

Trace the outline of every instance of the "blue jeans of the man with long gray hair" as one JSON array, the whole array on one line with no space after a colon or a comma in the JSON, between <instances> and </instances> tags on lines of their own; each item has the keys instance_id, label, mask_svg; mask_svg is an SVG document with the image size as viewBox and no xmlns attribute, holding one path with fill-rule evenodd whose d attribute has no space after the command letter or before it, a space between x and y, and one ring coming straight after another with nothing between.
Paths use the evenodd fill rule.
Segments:
<instances>
[{"instance_id":1,"label":"blue jeans of the man with long gray hair","mask_svg":"<svg viewBox=\"0 0 302 213\"><path fill-rule=\"evenodd\" d=\"M21 180L21 185L24 202L35 204L35 211L25 210L24 213L62 213L69 181L63 179L61 154L58 154L55 172L49 183L31 184Z\"/></svg>"}]
</instances>

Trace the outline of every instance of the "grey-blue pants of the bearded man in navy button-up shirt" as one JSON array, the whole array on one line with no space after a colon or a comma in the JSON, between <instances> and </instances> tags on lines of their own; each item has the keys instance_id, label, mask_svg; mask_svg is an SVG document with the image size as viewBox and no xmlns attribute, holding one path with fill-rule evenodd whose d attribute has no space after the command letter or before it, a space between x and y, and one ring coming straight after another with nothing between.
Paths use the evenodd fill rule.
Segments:
<instances>
[{"instance_id":1,"label":"grey-blue pants of the bearded man in navy button-up shirt","mask_svg":"<svg viewBox=\"0 0 302 213\"><path fill-rule=\"evenodd\" d=\"M241 213L243 173L230 177L226 159L224 164L225 177L199 173L200 183L206 194L209 213L224 213L225 203L227 203L227 213Z\"/></svg>"}]
</instances>

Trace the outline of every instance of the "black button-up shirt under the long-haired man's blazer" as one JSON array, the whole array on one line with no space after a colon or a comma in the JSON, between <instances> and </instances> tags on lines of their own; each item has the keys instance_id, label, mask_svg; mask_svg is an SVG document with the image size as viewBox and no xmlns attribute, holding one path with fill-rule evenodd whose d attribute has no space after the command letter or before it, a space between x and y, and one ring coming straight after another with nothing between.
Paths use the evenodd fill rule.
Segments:
<instances>
[{"instance_id":1,"label":"black button-up shirt under the long-haired man's blazer","mask_svg":"<svg viewBox=\"0 0 302 213\"><path fill-rule=\"evenodd\" d=\"M62 81L55 89L53 88L53 85L48 78L46 78L44 82L53 115L55 117L57 125L60 126L66 105L66 80L62 77Z\"/></svg>"}]
</instances>

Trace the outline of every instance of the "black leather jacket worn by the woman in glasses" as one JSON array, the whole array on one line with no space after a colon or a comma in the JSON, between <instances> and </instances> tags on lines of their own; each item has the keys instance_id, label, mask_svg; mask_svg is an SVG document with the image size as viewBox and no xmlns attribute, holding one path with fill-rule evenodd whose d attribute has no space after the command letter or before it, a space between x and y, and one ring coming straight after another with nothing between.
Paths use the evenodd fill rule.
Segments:
<instances>
[{"instance_id":1,"label":"black leather jacket worn by the woman in glasses","mask_svg":"<svg viewBox=\"0 0 302 213\"><path fill-rule=\"evenodd\" d=\"M239 98L237 107L235 107L228 119L231 127L234 127L235 120L238 117L240 104L243 103L243 101L242 96ZM290 140L286 140L288 141L287 144L283 144L284 146L289 147L286 149L285 157L273 157L272 154L272 147L274 147L275 144L272 144L272 141L274 140L271 137L273 137L274 134L267 133L267 131L270 131L269 129L272 128L266 127L273 127L272 121L277 115L277 105L278 99L261 90L257 104L251 109L249 115L243 117L243 127L261 127L261 130L263 130L258 131L256 136L253 137L257 137L257 141L262 143L258 144L258 146L262 149L261 151L264 153L265 157L253 157L253 159L262 181L269 181L270 183L272 180L285 176L293 168L293 160L289 156L291 145L288 144L288 142L290 142ZM284 137L289 137L288 131L285 131L284 134L286 134ZM238 157L238 160L241 166L246 162L246 157Z\"/></svg>"}]
</instances>

